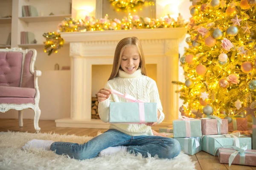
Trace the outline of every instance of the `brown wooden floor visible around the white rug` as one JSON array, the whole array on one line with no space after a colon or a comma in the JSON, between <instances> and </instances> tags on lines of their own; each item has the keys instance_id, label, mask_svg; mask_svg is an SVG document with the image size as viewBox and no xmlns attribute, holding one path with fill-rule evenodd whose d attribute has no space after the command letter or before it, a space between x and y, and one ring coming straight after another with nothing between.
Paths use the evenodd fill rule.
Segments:
<instances>
[{"instance_id":1,"label":"brown wooden floor visible around the white rug","mask_svg":"<svg viewBox=\"0 0 256 170\"><path fill-rule=\"evenodd\" d=\"M39 127L41 127L41 133L55 132L59 134L75 134L77 136L96 136L98 131L105 132L106 129L86 129L86 128L70 128L70 127L55 127L53 120L41 120L39 121ZM33 120L24 119L23 127L19 127L17 119L0 119L0 131L7 132L19 131L35 133ZM196 170L256 170L256 167L220 164L218 156L212 156L204 151L201 151L191 156L193 161L197 161Z\"/></svg>"}]
</instances>

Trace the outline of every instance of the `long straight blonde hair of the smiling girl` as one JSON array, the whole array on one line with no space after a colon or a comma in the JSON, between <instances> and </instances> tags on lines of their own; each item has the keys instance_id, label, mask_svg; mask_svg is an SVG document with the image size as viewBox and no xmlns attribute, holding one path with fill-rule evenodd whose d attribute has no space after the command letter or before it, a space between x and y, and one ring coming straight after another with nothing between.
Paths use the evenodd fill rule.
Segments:
<instances>
[{"instance_id":1,"label":"long straight blonde hair of the smiling girl","mask_svg":"<svg viewBox=\"0 0 256 170\"><path fill-rule=\"evenodd\" d=\"M143 74L145 76L148 75L146 68L145 68L145 59L144 59L143 49L142 49L140 40L137 37L126 37L126 38L122 39L121 41L119 41L118 44L116 45L112 72L111 72L111 75L108 80L111 80L118 76L118 70L120 68L122 54L123 54L125 48L130 45L135 45L139 51L139 54L140 54L139 67L141 68L141 74Z\"/></svg>"}]
</instances>

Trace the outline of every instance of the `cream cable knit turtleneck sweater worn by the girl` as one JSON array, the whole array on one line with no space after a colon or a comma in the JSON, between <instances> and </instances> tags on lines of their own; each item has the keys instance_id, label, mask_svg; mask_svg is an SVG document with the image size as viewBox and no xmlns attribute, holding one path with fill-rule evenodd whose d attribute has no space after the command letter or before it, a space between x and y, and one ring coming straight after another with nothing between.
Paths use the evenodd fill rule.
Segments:
<instances>
[{"instance_id":1,"label":"cream cable knit turtleneck sweater worn by the girl","mask_svg":"<svg viewBox=\"0 0 256 170\"><path fill-rule=\"evenodd\" d=\"M142 75L140 68L133 74L127 74L125 71L119 70L119 77L109 80L105 88L114 89L122 94L130 94L136 99L140 99L145 102L156 102L157 109L160 111L160 118L157 123L159 124L163 121L164 113L159 98L157 84L153 79ZM109 119L110 102L127 102L127 99L111 94L108 99L103 102L99 102L99 116L105 123L107 123ZM111 124L109 128L119 130L130 136L153 135L151 127L144 124Z\"/></svg>"}]
</instances>

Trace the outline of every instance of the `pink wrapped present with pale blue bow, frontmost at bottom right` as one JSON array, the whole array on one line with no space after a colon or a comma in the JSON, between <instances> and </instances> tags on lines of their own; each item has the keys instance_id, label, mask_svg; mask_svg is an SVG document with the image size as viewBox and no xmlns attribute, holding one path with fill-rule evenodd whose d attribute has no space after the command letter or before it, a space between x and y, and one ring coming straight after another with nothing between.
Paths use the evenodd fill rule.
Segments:
<instances>
[{"instance_id":1,"label":"pink wrapped present with pale blue bow, frontmost at bottom right","mask_svg":"<svg viewBox=\"0 0 256 170\"><path fill-rule=\"evenodd\" d=\"M256 150L247 150L247 146L238 148L219 148L218 157L221 164L240 164L256 166Z\"/></svg>"}]
</instances>

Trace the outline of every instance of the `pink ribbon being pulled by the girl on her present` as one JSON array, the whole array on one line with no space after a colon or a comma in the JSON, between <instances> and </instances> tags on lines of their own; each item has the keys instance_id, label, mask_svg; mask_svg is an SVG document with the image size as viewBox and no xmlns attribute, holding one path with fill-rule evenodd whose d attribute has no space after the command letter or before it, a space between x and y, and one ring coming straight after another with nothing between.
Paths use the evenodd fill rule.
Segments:
<instances>
[{"instance_id":1,"label":"pink ribbon being pulled by the girl on her present","mask_svg":"<svg viewBox=\"0 0 256 170\"><path fill-rule=\"evenodd\" d=\"M137 102L139 103L139 113L140 113L140 123L145 123L145 110L144 110L144 101L140 99L135 99L134 96L131 96L129 94L122 94L119 91L111 89L111 93L115 94L119 97L122 97L124 99L127 99L129 102Z\"/></svg>"}]
</instances>

